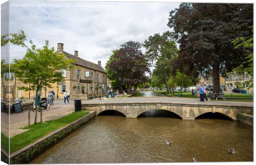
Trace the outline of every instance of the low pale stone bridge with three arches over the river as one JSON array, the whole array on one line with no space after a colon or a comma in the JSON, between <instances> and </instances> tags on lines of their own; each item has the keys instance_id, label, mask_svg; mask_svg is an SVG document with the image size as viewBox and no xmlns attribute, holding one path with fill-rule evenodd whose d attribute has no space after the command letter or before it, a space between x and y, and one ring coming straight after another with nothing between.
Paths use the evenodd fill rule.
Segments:
<instances>
[{"instance_id":1,"label":"low pale stone bridge with three arches over the river","mask_svg":"<svg viewBox=\"0 0 256 165\"><path fill-rule=\"evenodd\" d=\"M96 111L97 115L106 110L116 110L126 118L137 118L138 115L153 109L167 110L179 115L183 120L194 120L204 113L221 113L232 120L237 120L237 113L252 112L253 106L232 104L197 104L175 102L123 102L123 103L89 103L82 104L83 109Z\"/></svg>"}]
</instances>

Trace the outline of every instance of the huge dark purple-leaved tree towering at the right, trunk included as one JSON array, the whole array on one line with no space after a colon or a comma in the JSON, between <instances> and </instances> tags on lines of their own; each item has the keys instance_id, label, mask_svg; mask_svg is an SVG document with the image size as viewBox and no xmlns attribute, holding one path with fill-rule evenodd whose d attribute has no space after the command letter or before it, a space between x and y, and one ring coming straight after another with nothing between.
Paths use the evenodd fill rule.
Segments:
<instances>
[{"instance_id":1,"label":"huge dark purple-leaved tree towering at the right, trunk included","mask_svg":"<svg viewBox=\"0 0 256 165\"><path fill-rule=\"evenodd\" d=\"M213 76L213 91L219 92L219 75L226 75L247 57L247 50L235 49L238 37L251 36L253 4L182 3L170 12L168 26L180 44L172 63L186 75Z\"/></svg>"}]
</instances>

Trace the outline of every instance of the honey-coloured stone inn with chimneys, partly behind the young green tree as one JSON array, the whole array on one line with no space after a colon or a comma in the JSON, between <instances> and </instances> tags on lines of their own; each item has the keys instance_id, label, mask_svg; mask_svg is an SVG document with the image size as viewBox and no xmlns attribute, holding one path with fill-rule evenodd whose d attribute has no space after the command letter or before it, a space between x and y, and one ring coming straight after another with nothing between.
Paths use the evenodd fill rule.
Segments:
<instances>
[{"instance_id":1,"label":"honey-coloured stone inn with chimneys, partly behind the young green tree","mask_svg":"<svg viewBox=\"0 0 256 165\"><path fill-rule=\"evenodd\" d=\"M50 90L55 92L55 98L63 99L65 90L70 94L71 99L87 99L88 97L97 97L102 95L107 90L107 72L102 68L101 61L98 64L94 64L90 61L86 61L78 57L78 51L74 51L74 54L64 52L64 44L58 43L57 52L62 52L66 55L66 58L75 59L75 67L69 70L62 70L64 76L64 82L56 82L52 84L52 88L43 87L40 91L42 97L46 97ZM19 78L15 78L14 73L5 73L4 84L8 84L10 79L12 92L14 92L15 98L33 99L36 95L35 91L24 91L19 88L25 86ZM26 85L29 86L29 85ZM3 95L1 86L1 96Z\"/></svg>"}]
</instances>

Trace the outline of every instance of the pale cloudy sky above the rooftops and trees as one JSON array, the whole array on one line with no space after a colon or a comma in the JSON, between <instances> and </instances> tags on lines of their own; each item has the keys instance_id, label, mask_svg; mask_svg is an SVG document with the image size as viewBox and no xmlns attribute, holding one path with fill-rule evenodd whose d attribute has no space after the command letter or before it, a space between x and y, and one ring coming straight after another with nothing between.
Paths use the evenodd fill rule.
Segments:
<instances>
[{"instance_id":1,"label":"pale cloudy sky above the rooftops and trees","mask_svg":"<svg viewBox=\"0 0 256 165\"><path fill-rule=\"evenodd\" d=\"M112 50L129 40L144 42L150 35L170 31L169 12L180 2L74 2L74 1L10 1L10 33L24 30L27 39L38 47L49 40L57 49L105 64ZM1 35L8 33L7 16L1 5ZM8 13L8 12L6 12ZM8 47L2 47L2 54ZM10 45L10 61L26 53L25 48ZM2 57L3 59L3 57Z\"/></svg>"}]
</instances>

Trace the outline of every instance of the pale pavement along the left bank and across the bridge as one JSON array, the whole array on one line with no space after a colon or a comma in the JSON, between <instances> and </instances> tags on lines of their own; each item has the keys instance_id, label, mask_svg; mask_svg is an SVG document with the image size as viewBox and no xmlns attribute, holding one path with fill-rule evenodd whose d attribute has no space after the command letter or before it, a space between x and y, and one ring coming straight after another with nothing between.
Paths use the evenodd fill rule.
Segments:
<instances>
[{"instance_id":1,"label":"pale pavement along the left bank and across the bridge","mask_svg":"<svg viewBox=\"0 0 256 165\"><path fill-rule=\"evenodd\" d=\"M90 103L122 103L122 102L176 102L176 103L198 103L198 104L220 104L220 105L244 105L253 106L253 102L236 102L236 101L206 101L200 102L199 99L190 98L177 98L177 97L126 97L126 98L109 98L104 97L92 100L82 100L82 104ZM69 100L69 104L64 104L64 99L55 99L52 109L49 111L43 110L43 122L56 120L65 115L69 115L74 110L74 101ZM30 111L30 124L34 123L35 112ZM40 122L40 113L37 114L37 122ZM20 129L28 125L28 111L22 113L12 113L10 116L7 113L1 112L1 132L9 137L9 124L10 123L10 137L25 132L27 130Z\"/></svg>"}]
</instances>

